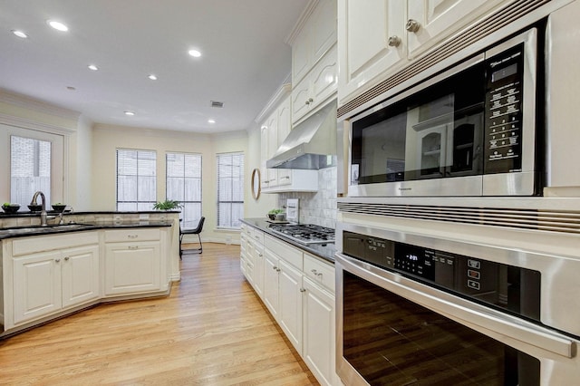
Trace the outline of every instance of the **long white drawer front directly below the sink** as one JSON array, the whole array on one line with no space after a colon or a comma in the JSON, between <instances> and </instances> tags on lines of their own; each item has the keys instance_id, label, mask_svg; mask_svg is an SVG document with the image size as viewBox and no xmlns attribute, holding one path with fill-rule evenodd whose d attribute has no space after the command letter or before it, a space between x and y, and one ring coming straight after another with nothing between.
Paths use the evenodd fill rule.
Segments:
<instances>
[{"instance_id":1,"label":"long white drawer front directly below the sink","mask_svg":"<svg viewBox=\"0 0 580 386\"><path fill-rule=\"evenodd\" d=\"M12 242L12 256L30 255L72 246L99 244L97 231L73 232L64 235L20 237Z\"/></svg>"}]
</instances>

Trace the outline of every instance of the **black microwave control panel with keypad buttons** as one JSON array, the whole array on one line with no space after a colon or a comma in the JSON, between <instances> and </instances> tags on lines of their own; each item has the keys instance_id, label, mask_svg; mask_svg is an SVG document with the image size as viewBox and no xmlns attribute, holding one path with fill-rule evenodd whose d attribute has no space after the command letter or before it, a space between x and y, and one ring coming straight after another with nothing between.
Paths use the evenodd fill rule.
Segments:
<instances>
[{"instance_id":1,"label":"black microwave control panel with keypad buttons","mask_svg":"<svg viewBox=\"0 0 580 386\"><path fill-rule=\"evenodd\" d=\"M522 169L524 43L486 61L484 173Z\"/></svg>"}]
</instances>

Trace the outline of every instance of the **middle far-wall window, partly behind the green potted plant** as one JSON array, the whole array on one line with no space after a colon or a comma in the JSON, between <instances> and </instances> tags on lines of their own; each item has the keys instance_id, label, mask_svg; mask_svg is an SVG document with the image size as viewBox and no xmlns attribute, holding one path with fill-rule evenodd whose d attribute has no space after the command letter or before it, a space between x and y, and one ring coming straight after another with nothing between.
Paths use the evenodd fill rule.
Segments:
<instances>
[{"instance_id":1,"label":"middle far-wall window, partly behind the green potted plant","mask_svg":"<svg viewBox=\"0 0 580 386\"><path fill-rule=\"evenodd\" d=\"M197 227L201 218L201 155L167 153L165 166L165 196L181 204L181 227Z\"/></svg>"}]
</instances>

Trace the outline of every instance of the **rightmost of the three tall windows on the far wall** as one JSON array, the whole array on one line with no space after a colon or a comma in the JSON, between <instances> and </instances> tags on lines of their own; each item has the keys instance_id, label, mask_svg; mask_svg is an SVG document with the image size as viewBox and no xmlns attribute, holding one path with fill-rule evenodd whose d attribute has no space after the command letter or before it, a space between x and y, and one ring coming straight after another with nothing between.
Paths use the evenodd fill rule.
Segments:
<instances>
[{"instance_id":1,"label":"rightmost of the three tall windows on the far wall","mask_svg":"<svg viewBox=\"0 0 580 386\"><path fill-rule=\"evenodd\" d=\"M218 154L218 227L239 228L244 217L244 153Z\"/></svg>"}]
</instances>

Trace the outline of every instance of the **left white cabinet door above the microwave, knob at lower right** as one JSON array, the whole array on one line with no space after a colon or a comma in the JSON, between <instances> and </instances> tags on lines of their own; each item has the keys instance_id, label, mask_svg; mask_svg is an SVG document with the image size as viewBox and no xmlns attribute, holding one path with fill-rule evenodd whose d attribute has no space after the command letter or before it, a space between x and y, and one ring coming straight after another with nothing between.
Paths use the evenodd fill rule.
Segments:
<instances>
[{"instance_id":1,"label":"left white cabinet door above the microwave, knob at lower right","mask_svg":"<svg viewBox=\"0 0 580 386\"><path fill-rule=\"evenodd\" d=\"M338 0L339 105L406 63L405 23L404 1Z\"/></svg>"}]
</instances>

